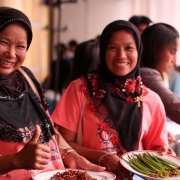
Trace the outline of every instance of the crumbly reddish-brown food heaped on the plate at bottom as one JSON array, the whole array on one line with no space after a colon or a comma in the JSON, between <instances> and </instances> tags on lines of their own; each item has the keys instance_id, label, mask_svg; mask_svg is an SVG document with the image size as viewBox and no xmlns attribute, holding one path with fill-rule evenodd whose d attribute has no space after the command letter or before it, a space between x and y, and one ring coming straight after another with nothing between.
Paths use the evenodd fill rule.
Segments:
<instances>
[{"instance_id":1,"label":"crumbly reddish-brown food heaped on the plate at bottom","mask_svg":"<svg viewBox=\"0 0 180 180\"><path fill-rule=\"evenodd\" d=\"M57 172L49 180L97 180L91 177L86 171L67 170L62 173Z\"/></svg>"}]
</instances>

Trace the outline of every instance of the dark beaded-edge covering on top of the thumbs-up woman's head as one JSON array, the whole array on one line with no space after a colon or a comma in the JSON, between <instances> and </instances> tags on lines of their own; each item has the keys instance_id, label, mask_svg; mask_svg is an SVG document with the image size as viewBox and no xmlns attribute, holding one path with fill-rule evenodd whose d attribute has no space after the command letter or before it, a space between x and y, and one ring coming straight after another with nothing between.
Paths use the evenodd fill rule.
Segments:
<instances>
[{"instance_id":1,"label":"dark beaded-edge covering on top of the thumbs-up woman's head","mask_svg":"<svg viewBox=\"0 0 180 180\"><path fill-rule=\"evenodd\" d=\"M32 28L30 20L23 12L17 9L11 7L0 7L0 31L2 31L6 26L14 22L20 22L27 28L28 49L32 40Z\"/></svg>"}]
</instances>

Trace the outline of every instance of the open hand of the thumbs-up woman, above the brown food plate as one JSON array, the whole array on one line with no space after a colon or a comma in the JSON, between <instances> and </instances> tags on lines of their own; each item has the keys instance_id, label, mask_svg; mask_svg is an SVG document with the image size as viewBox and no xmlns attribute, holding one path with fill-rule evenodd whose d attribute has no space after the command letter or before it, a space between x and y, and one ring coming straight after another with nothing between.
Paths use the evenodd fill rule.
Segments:
<instances>
[{"instance_id":1,"label":"open hand of the thumbs-up woman, above the brown food plate","mask_svg":"<svg viewBox=\"0 0 180 180\"><path fill-rule=\"evenodd\" d=\"M80 156L76 152L71 152L66 155L64 159L64 164L68 168L72 169L85 169L85 170L92 170L92 171L104 171L106 168L102 166L98 166L96 164L92 164L83 156Z\"/></svg>"}]
</instances>

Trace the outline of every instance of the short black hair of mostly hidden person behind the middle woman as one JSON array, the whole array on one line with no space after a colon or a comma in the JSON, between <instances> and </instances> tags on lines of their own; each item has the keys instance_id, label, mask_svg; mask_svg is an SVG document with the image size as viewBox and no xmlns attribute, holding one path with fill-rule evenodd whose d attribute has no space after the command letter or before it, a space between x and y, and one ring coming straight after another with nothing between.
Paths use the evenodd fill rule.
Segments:
<instances>
[{"instance_id":1,"label":"short black hair of mostly hidden person behind the middle woman","mask_svg":"<svg viewBox=\"0 0 180 180\"><path fill-rule=\"evenodd\" d=\"M138 26L139 24L150 25L152 23L151 19L146 16L132 16L129 19L129 22L133 23L135 26Z\"/></svg>"}]
</instances>

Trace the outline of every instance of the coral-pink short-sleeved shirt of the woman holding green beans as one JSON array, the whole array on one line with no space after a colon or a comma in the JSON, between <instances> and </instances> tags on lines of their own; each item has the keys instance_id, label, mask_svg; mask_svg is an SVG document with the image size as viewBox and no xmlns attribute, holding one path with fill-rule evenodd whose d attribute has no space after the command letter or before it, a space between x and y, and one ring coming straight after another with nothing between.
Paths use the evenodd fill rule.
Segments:
<instances>
[{"instance_id":1,"label":"coral-pink short-sleeved shirt of the woman holding green beans","mask_svg":"<svg viewBox=\"0 0 180 180\"><path fill-rule=\"evenodd\" d=\"M75 133L78 131L80 112L85 100L83 86L81 79L73 81L51 116L55 123ZM151 150L155 146L168 145L164 106L155 92L146 89L147 95L143 97L139 150ZM113 137L107 133L105 124L90 110L90 106L87 99L82 120L82 145L111 151L114 148Z\"/></svg>"}]
</instances>

